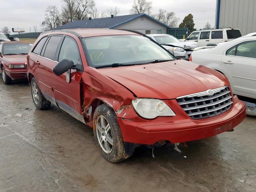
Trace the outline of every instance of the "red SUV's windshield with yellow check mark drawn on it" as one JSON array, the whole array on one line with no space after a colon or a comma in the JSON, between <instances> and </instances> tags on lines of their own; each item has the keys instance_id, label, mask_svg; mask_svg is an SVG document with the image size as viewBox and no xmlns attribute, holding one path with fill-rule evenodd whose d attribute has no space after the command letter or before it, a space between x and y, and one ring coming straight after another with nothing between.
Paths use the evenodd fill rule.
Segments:
<instances>
[{"instance_id":1,"label":"red SUV's windshield with yellow check mark drawn on it","mask_svg":"<svg viewBox=\"0 0 256 192\"><path fill-rule=\"evenodd\" d=\"M111 64L143 64L154 60L173 60L171 54L139 35L114 35L83 38L88 60L93 67Z\"/></svg>"}]
</instances>

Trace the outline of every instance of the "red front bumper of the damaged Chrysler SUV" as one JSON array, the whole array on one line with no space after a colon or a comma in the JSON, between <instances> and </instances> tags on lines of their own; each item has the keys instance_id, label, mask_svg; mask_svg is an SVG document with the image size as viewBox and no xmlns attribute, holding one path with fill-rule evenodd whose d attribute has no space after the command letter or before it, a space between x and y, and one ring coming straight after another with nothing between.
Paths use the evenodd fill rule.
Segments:
<instances>
[{"instance_id":1,"label":"red front bumper of the damaged Chrysler SUV","mask_svg":"<svg viewBox=\"0 0 256 192\"><path fill-rule=\"evenodd\" d=\"M199 140L231 130L246 117L246 106L236 96L232 108L227 112L199 120L188 117L175 102L169 100L169 105L176 112L173 117L158 117L154 120L117 118L123 140L137 144L154 144L161 140L172 143Z\"/></svg>"}]
</instances>

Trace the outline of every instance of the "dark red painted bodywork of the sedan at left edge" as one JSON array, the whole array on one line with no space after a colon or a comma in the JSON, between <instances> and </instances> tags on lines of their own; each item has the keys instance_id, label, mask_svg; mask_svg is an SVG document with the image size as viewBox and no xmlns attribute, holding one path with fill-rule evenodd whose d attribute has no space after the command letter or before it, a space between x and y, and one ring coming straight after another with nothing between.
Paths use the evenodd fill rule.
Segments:
<instances>
[{"instance_id":1,"label":"dark red painted bodywork of the sedan at left edge","mask_svg":"<svg viewBox=\"0 0 256 192\"><path fill-rule=\"evenodd\" d=\"M23 42L1 42L2 50L0 55L0 69L4 69L6 74L12 79L25 79L27 78L27 69L25 63L27 62L27 55L3 55L4 44L18 44ZM24 64L25 68L8 68L9 64Z\"/></svg>"}]
</instances>

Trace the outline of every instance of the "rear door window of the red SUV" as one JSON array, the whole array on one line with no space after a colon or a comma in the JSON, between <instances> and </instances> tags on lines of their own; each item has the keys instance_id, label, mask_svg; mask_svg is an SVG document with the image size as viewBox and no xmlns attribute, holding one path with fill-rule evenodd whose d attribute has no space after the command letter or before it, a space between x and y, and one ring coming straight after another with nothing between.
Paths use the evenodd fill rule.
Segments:
<instances>
[{"instance_id":1,"label":"rear door window of the red SUV","mask_svg":"<svg viewBox=\"0 0 256 192\"><path fill-rule=\"evenodd\" d=\"M51 36L48 41L45 51L44 57L49 58L51 60L55 60L55 53L58 48L62 36Z\"/></svg>"}]
</instances>

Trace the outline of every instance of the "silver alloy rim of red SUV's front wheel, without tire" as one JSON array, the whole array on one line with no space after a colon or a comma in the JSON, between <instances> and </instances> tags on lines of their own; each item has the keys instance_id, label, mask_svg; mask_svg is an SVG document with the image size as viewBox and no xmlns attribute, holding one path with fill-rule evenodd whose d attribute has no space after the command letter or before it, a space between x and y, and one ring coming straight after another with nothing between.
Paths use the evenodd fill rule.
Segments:
<instances>
[{"instance_id":1,"label":"silver alloy rim of red SUV's front wheel, without tire","mask_svg":"<svg viewBox=\"0 0 256 192\"><path fill-rule=\"evenodd\" d=\"M105 153L109 154L113 149L112 129L102 115L97 118L96 133L100 147Z\"/></svg>"}]
</instances>

